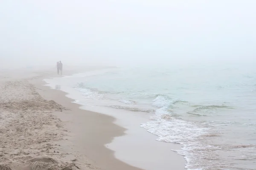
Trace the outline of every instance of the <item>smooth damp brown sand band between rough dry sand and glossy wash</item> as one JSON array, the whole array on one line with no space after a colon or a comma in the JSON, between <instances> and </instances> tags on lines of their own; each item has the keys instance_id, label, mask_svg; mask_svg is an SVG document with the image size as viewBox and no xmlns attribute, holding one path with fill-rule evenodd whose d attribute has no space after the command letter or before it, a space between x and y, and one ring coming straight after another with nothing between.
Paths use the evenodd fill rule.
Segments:
<instances>
[{"instance_id":1,"label":"smooth damp brown sand band between rough dry sand and glossy wash","mask_svg":"<svg viewBox=\"0 0 256 170\"><path fill-rule=\"evenodd\" d=\"M46 86L47 83L43 79L49 77L40 77L31 80L30 83L35 85L38 93L44 99L54 100L67 108L68 111L54 113L64 122L64 126L70 133L66 136L69 144L65 149L86 156L91 160L90 164L102 170L143 170L116 159L113 151L105 147L105 144L111 143L114 137L125 134L125 128L113 123L114 117L81 109L81 105L67 97L66 92ZM101 134L98 135L98 133ZM88 136L90 137L88 138Z\"/></svg>"}]
</instances>

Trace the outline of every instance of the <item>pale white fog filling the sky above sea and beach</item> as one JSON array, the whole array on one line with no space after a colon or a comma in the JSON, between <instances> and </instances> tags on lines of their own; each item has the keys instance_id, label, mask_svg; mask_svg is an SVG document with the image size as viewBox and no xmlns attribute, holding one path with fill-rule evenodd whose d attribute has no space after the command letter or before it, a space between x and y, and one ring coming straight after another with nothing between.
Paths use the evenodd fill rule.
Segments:
<instances>
[{"instance_id":1,"label":"pale white fog filling the sky above sea and beach","mask_svg":"<svg viewBox=\"0 0 256 170\"><path fill-rule=\"evenodd\" d=\"M255 0L1 0L1 67L255 63Z\"/></svg>"}]
</instances>

